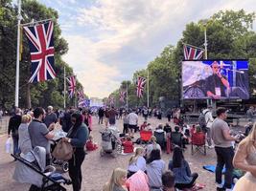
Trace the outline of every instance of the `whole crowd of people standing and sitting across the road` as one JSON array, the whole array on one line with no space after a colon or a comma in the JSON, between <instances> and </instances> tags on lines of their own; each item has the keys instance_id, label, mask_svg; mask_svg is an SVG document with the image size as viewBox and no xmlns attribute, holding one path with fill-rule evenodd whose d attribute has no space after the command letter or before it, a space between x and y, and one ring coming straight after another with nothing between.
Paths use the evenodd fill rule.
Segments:
<instances>
[{"instance_id":1,"label":"whole crowd of people standing and sitting across the road","mask_svg":"<svg viewBox=\"0 0 256 191\"><path fill-rule=\"evenodd\" d=\"M159 123L156 127L152 127L148 118L154 116L161 119L160 110L151 110L147 107L140 110L100 108L99 124L104 124L105 121L105 129L113 132L116 138L120 138L124 153L133 153L135 148L134 155L128 160L127 169L115 168L103 189L105 191L171 191L192 188L199 175L197 172L191 172L183 153L186 145L193 143L193 138L203 138L209 149L215 148L217 190L231 190L234 183L234 167L244 170L246 174L237 181L233 190L244 190L244 185L247 190L253 190L256 182L256 169L253 166L256 162L255 125L251 121L246 125L244 132L246 138L238 145L235 154L234 142L239 142L241 138L232 136L230 127L225 122L227 110L217 109L216 118L212 113L213 108L209 106L202 110L198 123L185 124L180 122L182 120L180 109L174 108L167 111L168 122L165 125ZM145 119L142 124L139 124L139 115ZM117 118L123 120L121 133L116 127ZM173 119L172 123L170 123L171 119ZM81 164L86 152L84 148L87 151L98 148L90 134L93 126L92 114L89 110L70 108L65 112L58 112L58 110L54 111L52 106L48 106L47 112L37 107L26 111L25 114L16 108L8 128L8 137L12 137L13 140L13 154L24 156L36 146L40 146L45 149L46 164L51 164L50 140L55 137L53 130L57 124L67 133L67 136L61 140L75 148L72 159L68 160L69 176L73 190L81 190ZM144 147L134 145L141 143L142 132L151 132L151 138ZM137 140L134 139L136 134L140 134ZM115 149L115 141L113 139L111 141L112 149ZM163 152L173 152L173 159L168 164L161 159ZM221 180L223 167L225 167L224 184Z\"/></svg>"}]
</instances>

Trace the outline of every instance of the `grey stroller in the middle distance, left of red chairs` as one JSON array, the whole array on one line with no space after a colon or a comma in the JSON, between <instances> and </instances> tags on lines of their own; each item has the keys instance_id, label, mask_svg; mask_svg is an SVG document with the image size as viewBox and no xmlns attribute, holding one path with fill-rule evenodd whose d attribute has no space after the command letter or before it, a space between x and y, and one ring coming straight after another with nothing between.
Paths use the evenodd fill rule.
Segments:
<instances>
[{"instance_id":1,"label":"grey stroller in the middle distance, left of red chairs","mask_svg":"<svg viewBox=\"0 0 256 191\"><path fill-rule=\"evenodd\" d=\"M100 151L101 157L106 153L116 158L118 154L122 153L122 143L118 138L117 132L105 129L105 131L100 133L102 134L102 149Z\"/></svg>"}]
</instances>

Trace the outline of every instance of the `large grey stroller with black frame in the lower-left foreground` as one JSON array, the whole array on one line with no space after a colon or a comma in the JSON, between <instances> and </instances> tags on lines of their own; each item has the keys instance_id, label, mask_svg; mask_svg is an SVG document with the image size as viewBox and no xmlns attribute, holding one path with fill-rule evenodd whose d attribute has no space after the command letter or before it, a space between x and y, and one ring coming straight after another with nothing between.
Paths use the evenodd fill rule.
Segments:
<instances>
[{"instance_id":1,"label":"large grey stroller with black frame in the lower-left foreground","mask_svg":"<svg viewBox=\"0 0 256 191\"><path fill-rule=\"evenodd\" d=\"M45 166L46 152L43 147L36 146L26 155L12 157L17 159L13 179L31 183L30 191L65 191L61 183L71 184L70 180L55 173L54 166Z\"/></svg>"}]
</instances>

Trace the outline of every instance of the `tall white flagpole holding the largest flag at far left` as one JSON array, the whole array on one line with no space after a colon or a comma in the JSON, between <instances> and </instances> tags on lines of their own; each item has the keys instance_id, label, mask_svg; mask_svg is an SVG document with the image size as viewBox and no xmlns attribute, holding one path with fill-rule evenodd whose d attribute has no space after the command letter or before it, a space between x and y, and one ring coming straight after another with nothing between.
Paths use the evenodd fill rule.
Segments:
<instances>
[{"instance_id":1,"label":"tall white flagpole holding the largest flag at far left","mask_svg":"<svg viewBox=\"0 0 256 191\"><path fill-rule=\"evenodd\" d=\"M18 107L19 88L19 44L20 44L20 21L21 21L21 0L18 0L18 25L17 25L17 56L16 56L16 80L15 80L15 107Z\"/></svg>"}]
</instances>

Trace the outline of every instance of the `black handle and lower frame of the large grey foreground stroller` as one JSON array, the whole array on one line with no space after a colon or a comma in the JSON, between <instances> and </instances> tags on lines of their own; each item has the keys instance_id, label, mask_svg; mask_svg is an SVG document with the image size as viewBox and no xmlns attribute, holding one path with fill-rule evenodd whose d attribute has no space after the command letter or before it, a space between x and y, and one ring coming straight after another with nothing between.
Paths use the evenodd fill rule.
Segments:
<instances>
[{"instance_id":1,"label":"black handle and lower frame of the large grey foreground stroller","mask_svg":"<svg viewBox=\"0 0 256 191\"><path fill-rule=\"evenodd\" d=\"M30 191L66 191L66 188L64 188L60 183L63 184L71 184L71 180L66 180L62 176L60 176L58 173L51 173L51 172L46 172L47 167L45 168L45 171L42 172L40 171L40 167L36 165L35 163L32 163L26 159L23 159L21 157L12 155L12 158L18 160L21 162L21 164L24 165L24 168L29 168L32 171L35 172L35 174L38 175L38 177L41 177L42 179L42 184L40 187L35 186L34 184L31 186Z\"/></svg>"}]
</instances>

